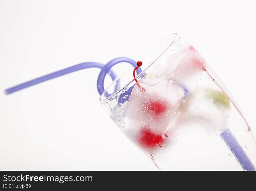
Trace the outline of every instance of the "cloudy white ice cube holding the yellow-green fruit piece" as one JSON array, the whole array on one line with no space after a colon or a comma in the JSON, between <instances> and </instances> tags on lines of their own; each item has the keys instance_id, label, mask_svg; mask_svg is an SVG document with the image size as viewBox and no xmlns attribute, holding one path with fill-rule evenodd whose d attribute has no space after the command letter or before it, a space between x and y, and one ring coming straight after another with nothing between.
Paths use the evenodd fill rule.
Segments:
<instances>
[{"instance_id":1,"label":"cloudy white ice cube holding the yellow-green fruit piece","mask_svg":"<svg viewBox=\"0 0 256 191\"><path fill-rule=\"evenodd\" d=\"M179 123L193 121L207 128L223 130L227 127L229 107L224 93L214 89L197 89L181 102Z\"/></svg>"}]
</instances>

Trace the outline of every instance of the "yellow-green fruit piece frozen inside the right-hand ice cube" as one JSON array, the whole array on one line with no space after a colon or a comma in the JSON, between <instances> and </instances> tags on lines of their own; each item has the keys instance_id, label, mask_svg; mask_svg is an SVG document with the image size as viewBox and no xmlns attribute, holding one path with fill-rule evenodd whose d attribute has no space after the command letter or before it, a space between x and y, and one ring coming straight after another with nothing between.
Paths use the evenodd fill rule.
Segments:
<instances>
[{"instance_id":1,"label":"yellow-green fruit piece frozen inside the right-hand ice cube","mask_svg":"<svg viewBox=\"0 0 256 191\"><path fill-rule=\"evenodd\" d=\"M225 106L226 108L230 108L229 98L225 93L211 89L208 89L205 92L206 96L208 98L212 98L215 104Z\"/></svg>"}]
</instances>

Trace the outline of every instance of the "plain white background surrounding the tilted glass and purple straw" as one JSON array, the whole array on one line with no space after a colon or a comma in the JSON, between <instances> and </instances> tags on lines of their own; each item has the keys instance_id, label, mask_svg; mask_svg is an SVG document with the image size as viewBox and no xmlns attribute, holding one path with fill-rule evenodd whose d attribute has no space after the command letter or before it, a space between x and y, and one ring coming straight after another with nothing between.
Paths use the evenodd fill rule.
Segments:
<instances>
[{"instance_id":1,"label":"plain white background surrounding the tilted glass and purple straw","mask_svg":"<svg viewBox=\"0 0 256 191\"><path fill-rule=\"evenodd\" d=\"M255 24L253 0L0 0L0 169L157 169L99 104L99 69L3 91L85 61L137 58L174 32L215 69L256 131Z\"/></svg>"}]
</instances>

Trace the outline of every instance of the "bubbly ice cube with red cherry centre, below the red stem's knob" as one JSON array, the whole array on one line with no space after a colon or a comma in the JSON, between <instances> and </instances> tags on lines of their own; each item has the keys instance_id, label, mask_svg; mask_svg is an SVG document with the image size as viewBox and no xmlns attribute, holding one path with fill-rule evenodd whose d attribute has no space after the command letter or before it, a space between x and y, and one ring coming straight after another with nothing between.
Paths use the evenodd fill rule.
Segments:
<instances>
[{"instance_id":1,"label":"bubbly ice cube with red cherry centre, below the red stem's knob","mask_svg":"<svg viewBox=\"0 0 256 191\"><path fill-rule=\"evenodd\" d=\"M149 127L151 133L162 135L179 110L184 90L166 79L157 85L147 85L147 81L147 79L139 81L139 84L145 88L145 92L141 92L138 86L134 86L125 115L135 122L138 128Z\"/></svg>"}]
</instances>

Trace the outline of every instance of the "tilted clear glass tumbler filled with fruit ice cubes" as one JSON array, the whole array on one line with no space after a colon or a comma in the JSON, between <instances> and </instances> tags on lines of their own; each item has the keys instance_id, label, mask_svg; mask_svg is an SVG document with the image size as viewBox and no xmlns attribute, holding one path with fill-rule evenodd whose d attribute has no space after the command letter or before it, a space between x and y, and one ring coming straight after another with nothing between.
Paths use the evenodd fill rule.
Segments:
<instances>
[{"instance_id":1,"label":"tilted clear glass tumbler filled with fruit ice cubes","mask_svg":"<svg viewBox=\"0 0 256 191\"><path fill-rule=\"evenodd\" d=\"M109 116L163 170L255 170L256 142L204 58L172 34L141 59L148 67L100 98ZM111 96L106 97L104 95Z\"/></svg>"}]
</instances>

